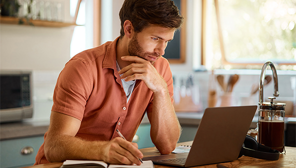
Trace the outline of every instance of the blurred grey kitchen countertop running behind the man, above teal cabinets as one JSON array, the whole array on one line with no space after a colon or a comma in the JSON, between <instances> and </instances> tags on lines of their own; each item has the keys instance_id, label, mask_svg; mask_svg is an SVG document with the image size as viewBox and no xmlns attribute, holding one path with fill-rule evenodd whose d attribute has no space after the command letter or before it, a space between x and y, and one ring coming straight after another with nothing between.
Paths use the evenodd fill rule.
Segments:
<instances>
[{"instance_id":1,"label":"blurred grey kitchen countertop running behind the man, above teal cabinets","mask_svg":"<svg viewBox=\"0 0 296 168\"><path fill-rule=\"evenodd\" d=\"M176 112L181 125L198 126L203 112ZM285 119L286 122L295 122L296 118L291 117ZM149 120L144 116L141 124L147 124ZM255 115L250 128L255 128L257 116ZM48 129L49 120L27 120L22 122L1 123L0 124L0 140L23 138L30 136L42 136Z\"/></svg>"}]
</instances>

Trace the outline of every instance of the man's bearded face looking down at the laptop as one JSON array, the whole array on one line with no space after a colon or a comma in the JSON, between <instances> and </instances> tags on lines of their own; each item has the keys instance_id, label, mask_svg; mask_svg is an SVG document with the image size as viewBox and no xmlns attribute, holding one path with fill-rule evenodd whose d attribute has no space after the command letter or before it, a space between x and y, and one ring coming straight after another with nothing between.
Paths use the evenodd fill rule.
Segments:
<instances>
[{"instance_id":1,"label":"man's bearded face looking down at the laptop","mask_svg":"<svg viewBox=\"0 0 296 168\"><path fill-rule=\"evenodd\" d=\"M128 52L131 56L139 56L154 62L164 55L167 42L172 40L174 29L151 25L141 32L134 33L128 43Z\"/></svg>"}]
</instances>

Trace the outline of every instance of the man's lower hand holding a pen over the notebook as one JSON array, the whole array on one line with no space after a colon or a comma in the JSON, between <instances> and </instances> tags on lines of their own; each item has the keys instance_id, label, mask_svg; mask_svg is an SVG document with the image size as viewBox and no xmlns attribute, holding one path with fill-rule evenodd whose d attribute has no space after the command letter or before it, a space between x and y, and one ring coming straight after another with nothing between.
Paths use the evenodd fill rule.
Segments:
<instances>
[{"instance_id":1,"label":"man's lower hand holding a pen over the notebook","mask_svg":"<svg viewBox=\"0 0 296 168\"><path fill-rule=\"evenodd\" d=\"M138 158L142 158L143 154L137 147L136 143L116 137L105 145L103 149L103 160L111 164L135 163L140 165L141 162Z\"/></svg>"}]
</instances>

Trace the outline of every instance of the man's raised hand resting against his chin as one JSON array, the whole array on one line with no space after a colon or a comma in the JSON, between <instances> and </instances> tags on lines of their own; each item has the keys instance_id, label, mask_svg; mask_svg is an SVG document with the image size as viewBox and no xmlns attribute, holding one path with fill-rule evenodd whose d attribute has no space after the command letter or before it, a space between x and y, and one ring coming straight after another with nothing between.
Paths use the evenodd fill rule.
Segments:
<instances>
[{"instance_id":1,"label":"man's raised hand resting against his chin","mask_svg":"<svg viewBox=\"0 0 296 168\"><path fill-rule=\"evenodd\" d=\"M138 56L122 56L122 60L134 62L123 67L119 72L125 81L140 79L154 93L166 89L166 82L159 75L154 66L148 61Z\"/></svg>"}]
</instances>

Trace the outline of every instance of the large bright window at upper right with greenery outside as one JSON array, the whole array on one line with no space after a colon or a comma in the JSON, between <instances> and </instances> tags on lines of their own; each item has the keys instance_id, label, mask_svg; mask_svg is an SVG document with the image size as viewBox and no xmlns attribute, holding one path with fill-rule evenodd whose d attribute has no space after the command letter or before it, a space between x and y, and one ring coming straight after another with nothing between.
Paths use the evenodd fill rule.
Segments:
<instances>
[{"instance_id":1,"label":"large bright window at upper right with greenery outside","mask_svg":"<svg viewBox=\"0 0 296 168\"><path fill-rule=\"evenodd\" d=\"M271 60L296 70L294 0L211 0L206 15L208 69L261 68Z\"/></svg>"}]
</instances>

